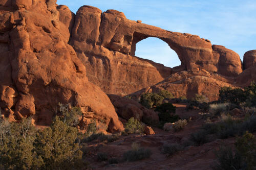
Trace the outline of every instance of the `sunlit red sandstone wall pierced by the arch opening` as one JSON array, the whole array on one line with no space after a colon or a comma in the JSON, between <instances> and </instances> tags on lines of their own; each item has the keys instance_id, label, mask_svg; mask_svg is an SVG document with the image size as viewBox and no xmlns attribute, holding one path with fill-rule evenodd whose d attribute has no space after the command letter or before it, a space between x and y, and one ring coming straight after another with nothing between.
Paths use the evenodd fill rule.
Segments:
<instances>
[{"instance_id":1,"label":"sunlit red sandstone wall pierced by the arch opening","mask_svg":"<svg viewBox=\"0 0 256 170\"><path fill-rule=\"evenodd\" d=\"M178 54L181 65L168 68L135 57L136 43L148 37L165 41ZM69 43L86 66L89 81L112 94L135 92L178 71L204 69L234 78L243 69L239 55L224 46L126 19L119 11L102 13L91 6L78 10Z\"/></svg>"}]
</instances>

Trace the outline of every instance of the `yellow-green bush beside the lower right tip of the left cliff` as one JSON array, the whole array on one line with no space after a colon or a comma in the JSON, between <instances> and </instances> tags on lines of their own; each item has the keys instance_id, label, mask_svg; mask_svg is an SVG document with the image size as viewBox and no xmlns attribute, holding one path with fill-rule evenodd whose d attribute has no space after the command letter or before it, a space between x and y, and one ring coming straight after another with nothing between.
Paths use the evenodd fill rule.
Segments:
<instances>
[{"instance_id":1,"label":"yellow-green bush beside the lower right tip of the left cliff","mask_svg":"<svg viewBox=\"0 0 256 170\"><path fill-rule=\"evenodd\" d=\"M143 133L143 130L144 130L143 124L139 120L135 119L134 117L131 117L127 121L124 129L124 131L127 133L138 133L138 134Z\"/></svg>"}]
</instances>

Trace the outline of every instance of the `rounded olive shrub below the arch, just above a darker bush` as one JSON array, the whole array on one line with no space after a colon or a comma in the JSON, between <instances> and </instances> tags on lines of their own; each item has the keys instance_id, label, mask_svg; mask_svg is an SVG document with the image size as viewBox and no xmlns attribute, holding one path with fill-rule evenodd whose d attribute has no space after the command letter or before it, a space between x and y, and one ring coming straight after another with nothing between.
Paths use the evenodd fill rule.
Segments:
<instances>
[{"instance_id":1,"label":"rounded olive shrub below the arch, just above a darker bush","mask_svg":"<svg viewBox=\"0 0 256 170\"><path fill-rule=\"evenodd\" d=\"M164 97L157 93L143 93L140 96L140 104L148 109L162 104Z\"/></svg>"}]
</instances>

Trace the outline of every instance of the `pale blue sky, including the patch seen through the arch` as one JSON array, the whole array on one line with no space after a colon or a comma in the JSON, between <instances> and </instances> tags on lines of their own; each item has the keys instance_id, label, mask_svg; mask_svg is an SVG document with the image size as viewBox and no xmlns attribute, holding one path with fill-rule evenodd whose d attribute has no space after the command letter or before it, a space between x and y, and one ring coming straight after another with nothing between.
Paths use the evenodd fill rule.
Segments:
<instances>
[{"instance_id":1,"label":"pale blue sky, including the patch seen through the arch","mask_svg":"<svg viewBox=\"0 0 256 170\"><path fill-rule=\"evenodd\" d=\"M205 0L58 0L76 13L79 7L91 5L103 12L115 9L128 19L165 30L199 35L212 44L224 45L243 55L256 50L256 1ZM174 67L180 64L177 54L157 39L147 38L137 43L136 56Z\"/></svg>"}]
</instances>

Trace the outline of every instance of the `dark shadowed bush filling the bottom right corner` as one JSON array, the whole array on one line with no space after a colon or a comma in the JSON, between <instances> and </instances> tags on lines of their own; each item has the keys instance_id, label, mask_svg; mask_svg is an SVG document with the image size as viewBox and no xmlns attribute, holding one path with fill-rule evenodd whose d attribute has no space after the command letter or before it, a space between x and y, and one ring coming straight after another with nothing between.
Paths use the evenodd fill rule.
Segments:
<instances>
[{"instance_id":1,"label":"dark shadowed bush filling the bottom right corner","mask_svg":"<svg viewBox=\"0 0 256 170\"><path fill-rule=\"evenodd\" d=\"M221 146L216 156L218 162L215 169L255 169L255 136L246 131L243 136L237 137L234 150Z\"/></svg>"}]
</instances>

